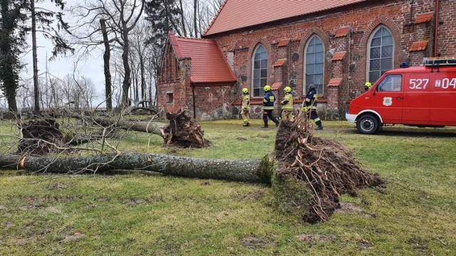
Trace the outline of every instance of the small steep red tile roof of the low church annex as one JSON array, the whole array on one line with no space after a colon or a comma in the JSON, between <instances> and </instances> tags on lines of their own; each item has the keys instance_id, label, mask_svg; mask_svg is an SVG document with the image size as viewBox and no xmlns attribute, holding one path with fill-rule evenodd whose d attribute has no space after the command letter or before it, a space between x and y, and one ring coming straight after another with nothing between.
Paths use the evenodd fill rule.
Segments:
<instances>
[{"instance_id":1,"label":"small steep red tile roof of the low church annex","mask_svg":"<svg viewBox=\"0 0 456 256\"><path fill-rule=\"evenodd\" d=\"M191 82L236 82L217 42L208 39L185 38L168 33L177 58L191 58Z\"/></svg>"}]
</instances>

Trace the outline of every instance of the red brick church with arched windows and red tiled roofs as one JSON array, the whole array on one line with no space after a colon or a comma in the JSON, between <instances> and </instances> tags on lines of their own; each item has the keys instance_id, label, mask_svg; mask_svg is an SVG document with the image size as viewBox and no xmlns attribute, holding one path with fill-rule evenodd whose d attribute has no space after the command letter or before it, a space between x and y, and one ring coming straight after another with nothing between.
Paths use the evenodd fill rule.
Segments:
<instances>
[{"instance_id":1,"label":"red brick church with arched windows and red tiled roofs","mask_svg":"<svg viewBox=\"0 0 456 256\"><path fill-rule=\"evenodd\" d=\"M242 88L261 116L264 85L301 106L316 85L318 112L341 119L351 99L385 71L456 56L455 0L226 0L202 38L169 33L159 107L199 120L238 116Z\"/></svg>"}]
</instances>

